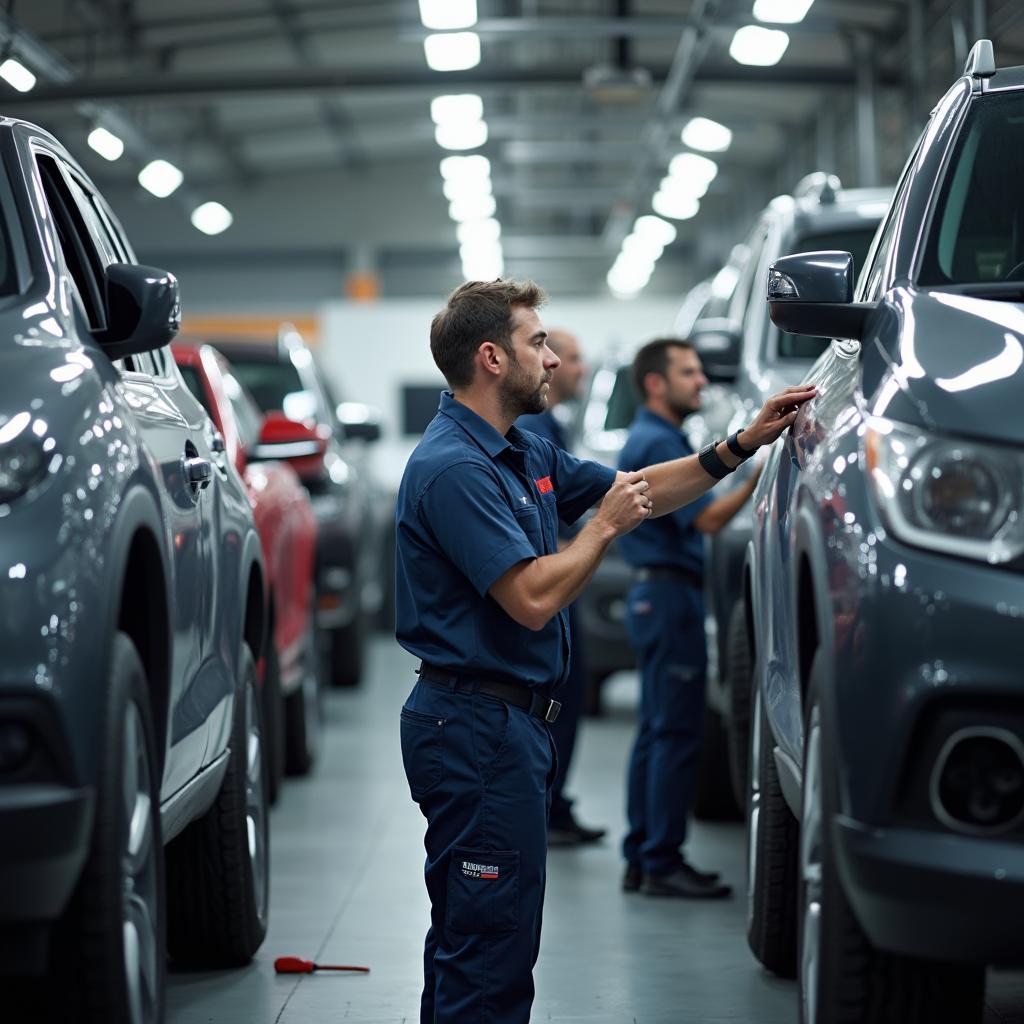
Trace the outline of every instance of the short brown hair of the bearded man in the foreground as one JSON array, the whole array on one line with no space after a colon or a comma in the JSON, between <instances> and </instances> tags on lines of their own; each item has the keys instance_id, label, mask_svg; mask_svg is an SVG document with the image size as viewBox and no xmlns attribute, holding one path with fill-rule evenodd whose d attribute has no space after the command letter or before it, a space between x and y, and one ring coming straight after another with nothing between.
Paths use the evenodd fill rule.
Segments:
<instances>
[{"instance_id":1,"label":"short brown hair of the bearded man in the foreground","mask_svg":"<svg viewBox=\"0 0 1024 1024\"><path fill-rule=\"evenodd\" d=\"M467 281L430 323L430 353L449 386L473 382L473 358L485 341L512 355L512 310L537 309L547 296L531 281Z\"/></svg>"}]
</instances>

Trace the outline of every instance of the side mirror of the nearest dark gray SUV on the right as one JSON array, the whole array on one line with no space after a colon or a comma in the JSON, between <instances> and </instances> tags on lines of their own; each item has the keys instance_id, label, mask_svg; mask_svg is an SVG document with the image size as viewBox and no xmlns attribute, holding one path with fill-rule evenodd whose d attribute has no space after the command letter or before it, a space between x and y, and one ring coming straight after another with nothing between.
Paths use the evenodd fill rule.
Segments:
<instances>
[{"instance_id":1,"label":"side mirror of the nearest dark gray SUV on the right","mask_svg":"<svg viewBox=\"0 0 1024 1024\"><path fill-rule=\"evenodd\" d=\"M870 302L853 301L853 257L825 251L775 260L768 269L768 311L790 334L860 340Z\"/></svg>"}]
</instances>

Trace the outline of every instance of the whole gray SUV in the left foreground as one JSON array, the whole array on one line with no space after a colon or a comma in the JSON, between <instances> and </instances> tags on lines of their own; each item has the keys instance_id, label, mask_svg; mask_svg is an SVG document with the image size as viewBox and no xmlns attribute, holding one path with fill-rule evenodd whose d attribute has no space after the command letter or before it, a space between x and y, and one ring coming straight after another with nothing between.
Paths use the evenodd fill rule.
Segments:
<instances>
[{"instance_id":1,"label":"whole gray SUV in the left foreground","mask_svg":"<svg viewBox=\"0 0 1024 1024\"><path fill-rule=\"evenodd\" d=\"M266 931L259 538L176 281L24 122L0 224L0 974L48 976L26 1019L159 1022L168 951Z\"/></svg>"}]
</instances>

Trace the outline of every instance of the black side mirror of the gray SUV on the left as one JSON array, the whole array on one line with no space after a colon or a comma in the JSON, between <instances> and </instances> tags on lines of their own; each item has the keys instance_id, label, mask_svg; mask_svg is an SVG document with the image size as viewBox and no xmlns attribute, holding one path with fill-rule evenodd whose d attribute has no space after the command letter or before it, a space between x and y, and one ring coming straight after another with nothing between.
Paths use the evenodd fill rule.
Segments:
<instances>
[{"instance_id":1,"label":"black side mirror of the gray SUV on the left","mask_svg":"<svg viewBox=\"0 0 1024 1024\"><path fill-rule=\"evenodd\" d=\"M181 301L173 273L137 263L106 268L106 330L99 342L112 359L152 352L181 327Z\"/></svg>"}]
</instances>

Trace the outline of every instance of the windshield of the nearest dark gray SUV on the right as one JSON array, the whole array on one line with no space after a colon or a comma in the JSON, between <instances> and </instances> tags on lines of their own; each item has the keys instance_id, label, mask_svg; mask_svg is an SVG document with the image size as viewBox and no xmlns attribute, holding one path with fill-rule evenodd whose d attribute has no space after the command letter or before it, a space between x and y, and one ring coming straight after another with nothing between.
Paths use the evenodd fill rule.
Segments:
<instances>
[{"instance_id":1,"label":"windshield of the nearest dark gray SUV on the right","mask_svg":"<svg viewBox=\"0 0 1024 1024\"><path fill-rule=\"evenodd\" d=\"M1024 93L975 102L932 218L919 285L1024 281Z\"/></svg>"}]
</instances>

